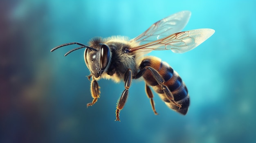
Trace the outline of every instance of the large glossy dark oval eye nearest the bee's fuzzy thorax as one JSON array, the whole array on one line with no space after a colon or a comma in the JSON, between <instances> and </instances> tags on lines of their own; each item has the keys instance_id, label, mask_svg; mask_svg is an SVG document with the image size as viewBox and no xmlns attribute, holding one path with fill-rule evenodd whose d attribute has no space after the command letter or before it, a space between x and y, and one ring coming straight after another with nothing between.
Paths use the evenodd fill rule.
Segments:
<instances>
[{"instance_id":1,"label":"large glossy dark oval eye nearest the bee's fuzzy thorax","mask_svg":"<svg viewBox=\"0 0 256 143\"><path fill-rule=\"evenodd\" d=\"M102 44L101 45L101 51L100 51L100 68L101 70L105 70L105 68L108 65L110 59L110 49L108 45Z\"/></svg>"}]
</instances>

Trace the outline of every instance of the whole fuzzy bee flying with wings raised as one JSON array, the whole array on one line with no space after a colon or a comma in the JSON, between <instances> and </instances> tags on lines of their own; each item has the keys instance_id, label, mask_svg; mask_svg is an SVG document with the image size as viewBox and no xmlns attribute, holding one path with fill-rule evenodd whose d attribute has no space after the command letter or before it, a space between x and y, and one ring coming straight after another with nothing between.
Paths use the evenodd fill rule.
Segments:
<instances>
[{"instance_id":1,"label":"whole fuzzy bee flying with wings raised","mask_svg":"<svg viewBox=\"0 0 256 143\"><path fill-rule=\"evenodd\" d=\"M178 73L169 64L154 56L144 56L151 51L171 50L173 53L185 53L207 40L215 32L213 29L195 29L180 32L189 21L190 11L181 11L155 22L144 33L129 40L124 36L108 38L95 37L87 45L72 42L59 45L79 45L65 54L85 48L84 60L90 70L92 106L100 97L98 80L112 79L115 82L124 80L124 91L117 101L116 120L124 108L132 79L143 78L146 95L150 99L153 112L155 103L151 88L157 92L166 105L185 115L189 109L189 93ZM151 87L151 88L150 88Z\"/></svg>"}]
</instances>

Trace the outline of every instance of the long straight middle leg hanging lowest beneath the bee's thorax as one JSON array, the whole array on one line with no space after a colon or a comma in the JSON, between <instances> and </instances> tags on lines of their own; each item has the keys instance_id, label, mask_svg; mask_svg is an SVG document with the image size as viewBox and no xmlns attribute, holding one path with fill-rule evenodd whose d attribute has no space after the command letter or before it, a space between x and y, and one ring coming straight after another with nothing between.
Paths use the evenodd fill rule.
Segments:
<instances>
[{"instance_id":1,"label":"long straight middle leg hanging lowest beneath the bee's thorax","mask_svg":"<svg viewBox=\"0 0 256 143\"><path fill-rule=\"evenodd\" d=\"M116 120L115 121L120 121L119 118L119 113L120 110L124 108L124 105L126 103L126 99L128 97L128 89L130 88L130 84L132 81L132 70L128 69L124 75L124 91L120 97L120 99L117 101L117 110L116 110Z\"/></svg>"}]
</instances>

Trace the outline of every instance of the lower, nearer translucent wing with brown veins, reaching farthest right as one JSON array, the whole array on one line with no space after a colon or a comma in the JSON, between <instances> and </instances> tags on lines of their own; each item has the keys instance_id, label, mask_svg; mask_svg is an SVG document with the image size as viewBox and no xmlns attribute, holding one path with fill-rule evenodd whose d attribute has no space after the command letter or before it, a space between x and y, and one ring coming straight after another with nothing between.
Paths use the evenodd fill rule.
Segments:
<instances>
[{"instance_id":1,"label":"lower, nearer translucent wing with brown veins, reaching farthest right","mask_svg":"<svg viewBox=\"0 0 256 143\"><path fill-rule=\"evenodd\" d=\"M149 53L153 50L171 50L174 53L185 53L207 40L215 31L213 29L195 29L166 36L130 49L131 52Z\"/></svg>"}]
</instances>

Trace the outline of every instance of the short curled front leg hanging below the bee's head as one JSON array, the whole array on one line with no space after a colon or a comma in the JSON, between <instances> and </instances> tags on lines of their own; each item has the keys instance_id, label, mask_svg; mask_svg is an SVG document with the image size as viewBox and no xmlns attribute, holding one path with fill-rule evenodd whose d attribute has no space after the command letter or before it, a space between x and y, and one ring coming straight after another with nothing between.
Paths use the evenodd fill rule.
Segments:
<instances>
[{"instance_id":1,"label":"short curled front leg hanging below the bee's head","mask_svg":"<svg viewBox=\"0 0 256 143\"><path fill-rule=\"evenodd\" d=\"M89 75L89 77L91 77L91 76ZM101 93L100 90L99 90L99 88L100 88L100 87L99 87L98 82L93 78L93 79L92 79L92 82L91 82L91 94L92 94L93 100L92 100L91 103L88 103L88 104L87 104L87 107L88 107L88 106L92 106L94 103L97 102L97 100L98 100L98 98L99 98L99 94Z\"/></svg>"}]
</instances>

